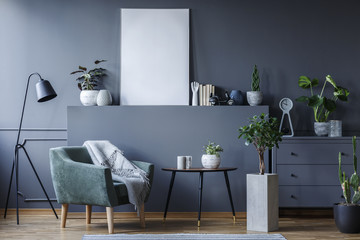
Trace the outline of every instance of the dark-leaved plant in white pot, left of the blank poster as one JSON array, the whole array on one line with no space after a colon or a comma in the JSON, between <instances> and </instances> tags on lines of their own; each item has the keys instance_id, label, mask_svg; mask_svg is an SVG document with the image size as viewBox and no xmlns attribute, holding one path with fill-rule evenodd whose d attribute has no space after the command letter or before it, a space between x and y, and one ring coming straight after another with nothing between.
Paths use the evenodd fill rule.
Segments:
<instances>
[{"instance_id":1,"label":"dark-leaved plant in white pot, left of the blank poster","mask_svg":"<svg viewBox=\"0 0 360 240\"><path fill-rule=\"evenodd\" d=\"M102 62L106 62L106 60L96 60L94 63L97 65ZM79 70L70 73L71 75L81 73L76 81L78 81L78 88L81 91L80 101L84 106L96 105L99 90L95 90L94 87L106 75L105 71L104 68L94 68L88 71L86 67L79 66Z\"/></svg>"}]
</instances>

